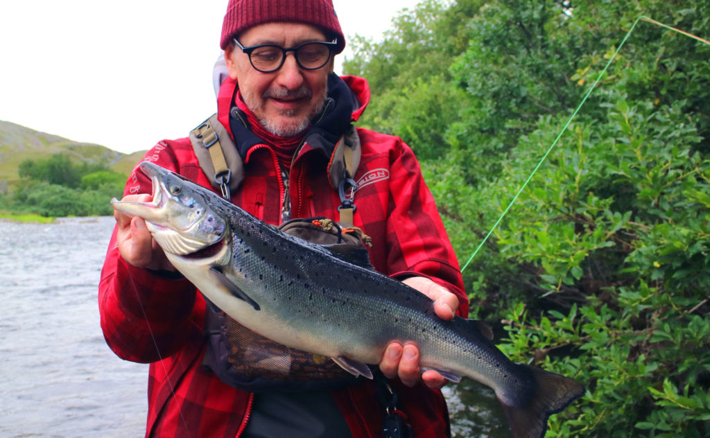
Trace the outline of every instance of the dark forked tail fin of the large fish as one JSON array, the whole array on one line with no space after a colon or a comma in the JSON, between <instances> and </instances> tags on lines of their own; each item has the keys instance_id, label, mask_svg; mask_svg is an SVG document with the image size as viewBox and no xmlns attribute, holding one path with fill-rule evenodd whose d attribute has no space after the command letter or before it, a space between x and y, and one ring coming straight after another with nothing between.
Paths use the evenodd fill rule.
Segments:
<instances>
[{"instance_id":1,"label":"dark forked tail fin of the large fish","mask_svg":"<svg viewBox=\"0 0 710 438\"><path fill-rule=\"evenodd\" d=\"M542 438L547 430L550 415L561 412L574 400L584 395L584 387L564 376L534 366L518 364L529 373L535 385L527 403L506 405L501 400L503 412L508 417L508 425L514 438Z\"/></svg>"}]
</instances>

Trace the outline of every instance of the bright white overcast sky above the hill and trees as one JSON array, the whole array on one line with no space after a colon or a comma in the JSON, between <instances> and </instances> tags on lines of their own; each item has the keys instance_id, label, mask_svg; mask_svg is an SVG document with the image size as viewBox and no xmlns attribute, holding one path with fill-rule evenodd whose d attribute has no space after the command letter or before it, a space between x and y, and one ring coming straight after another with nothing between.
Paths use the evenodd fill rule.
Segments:
<instances>
[{"instance_id":1,"label":"bright white overcast sky above the hill and trees","mask_svg":"<svg viewBox=\"0 0 710 438\"><path fill-rule=\"evenodd\" d=\"M346 38L376 40L417 3L334 0ZM0 120L124 153L187 136L216 111L226 4L0 0Z\"/></svg>"}]
</instances>

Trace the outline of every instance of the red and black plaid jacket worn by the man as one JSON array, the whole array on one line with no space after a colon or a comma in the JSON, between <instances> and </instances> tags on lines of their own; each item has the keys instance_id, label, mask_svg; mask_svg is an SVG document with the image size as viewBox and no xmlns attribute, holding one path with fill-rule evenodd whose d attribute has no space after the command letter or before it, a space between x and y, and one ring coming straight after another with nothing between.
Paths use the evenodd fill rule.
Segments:
<instances>
[{"instance_id":1,"label":"red and black plaid jacket worn by the man","mask_svg":"<svg viewBox=\"0 0 710 438\"><path fill-rule=\"evenodd\" d=\"M369 99L365 80L343 77L359 102L356 121ZM231 134L229 108L236 84L227 80L218 99L218 116ZM422 275L459 296L459 314L468 312L457 259L419 164L400 138L358 129L362 158L355 180L354 222L371 236L374 267L395 278ZM326 168L329 157L306 144L289 175L292 217L337 217L339 197ZM144 160L211 187L187 138L162 141ZM271 224L280 221L285 185L268 146L255 144L244 156L245 180L232 201ZM134 170L125 194L151 193L146 175ZM121 358L151 363L146 437L237 437L249 418L253 395L222 383L202 367L205 302L185 279L170 279L126 263L111 237L101 281L99 310L104 336ZM424 385L393 385L415 437L448 433L446 403ZM334 400L355 438L381 436L384 410L376 388L364 383L338 390Z\"/></svg>"}]
</instances>

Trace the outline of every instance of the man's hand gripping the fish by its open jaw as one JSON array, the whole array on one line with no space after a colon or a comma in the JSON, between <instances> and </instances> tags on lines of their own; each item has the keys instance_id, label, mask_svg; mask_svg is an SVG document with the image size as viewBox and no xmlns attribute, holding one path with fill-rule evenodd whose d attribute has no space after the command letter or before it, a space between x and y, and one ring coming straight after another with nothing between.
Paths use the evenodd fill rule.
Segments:
<instances>
[{"instance_id":1,"label":"man's hand gripping the fish by its open jaw","mask_svg":"<svg viewBox=\"0 0 710 438\"><path fill-rule=\"evenodd\" d=\"M151 195L126 195L121 201L150 202ZM125 261L138 268L154 270L175 270L163 253L163 248L153 241L146 221L141 217L132 217L114 209L114 218L118 229L116 244Z\"/></svg>"}]
</instances>

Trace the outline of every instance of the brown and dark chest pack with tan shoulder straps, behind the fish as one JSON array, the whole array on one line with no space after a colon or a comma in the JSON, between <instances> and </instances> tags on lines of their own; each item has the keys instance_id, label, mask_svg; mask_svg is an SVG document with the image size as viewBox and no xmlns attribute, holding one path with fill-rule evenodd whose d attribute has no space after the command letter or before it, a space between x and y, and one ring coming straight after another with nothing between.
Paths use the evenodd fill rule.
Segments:
<instances>
[{"instance_id":1,"label":"brown and dark chest pack with tan shoulder straps, behind the fish","mask_svg":"<svg viewBox=\"0 0 710 438\"><path fill-rule=\"evenodd\" d=\"M190 141L200 168L213 187L231 200L231 192L244 180L244 164L217 115L192 130ZM337 143L329 165L329 178L333 187L338 187L341 201L339 220L292 219L278 229L327 246L334 253L356 253L366 258L369 238L353 226L356 185L352 178L359 160L359 138L351 128ZM227 385L251 393L333 390L363 379L355 378L328 357L292 349L261 336L210 306L205 313L204 335L207 351L202 365Z\"/></svg>"}]
</instances>

